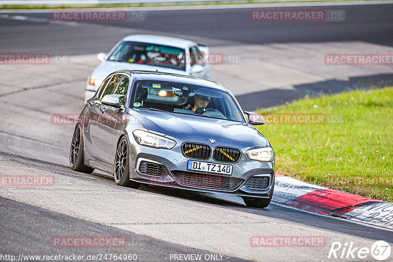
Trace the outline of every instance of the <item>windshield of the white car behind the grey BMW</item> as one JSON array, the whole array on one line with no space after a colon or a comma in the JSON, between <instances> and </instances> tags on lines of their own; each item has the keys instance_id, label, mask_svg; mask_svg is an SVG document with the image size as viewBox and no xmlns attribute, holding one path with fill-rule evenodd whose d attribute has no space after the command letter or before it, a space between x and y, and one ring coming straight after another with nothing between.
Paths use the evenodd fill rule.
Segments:
<instances>
[{"instance_id":1,"label":"windshield of the white car behind the grey BMW","mask_svg":"<svg viewBox=\"0 0 393 262\"><path fill-rule=\"evenodd\" d=\"M112 52L108 60L186 71L184 49L157 44L124 41Z\"/></svg>"}]
</instances>

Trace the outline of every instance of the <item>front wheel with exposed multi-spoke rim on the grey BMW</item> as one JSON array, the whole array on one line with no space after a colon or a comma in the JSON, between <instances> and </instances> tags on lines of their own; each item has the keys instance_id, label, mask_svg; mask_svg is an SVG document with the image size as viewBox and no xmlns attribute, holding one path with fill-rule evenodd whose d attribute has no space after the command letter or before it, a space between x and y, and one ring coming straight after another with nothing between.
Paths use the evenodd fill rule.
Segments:
<instances>
[{"instance_id":1,"label":"front wheel with exposed multi-spoke rim on the grey BMW","mask_svg":"<svg viewBox=\"0 0 393 262\"><path fill-rule=\"evenodd\" d=\"M140 187L140 183L130 181L130 157L128 155L128 140L123 136L116 148L116 156L114 157L114 182L121 186L132 188Z\"/></svg>"}]
</instances>

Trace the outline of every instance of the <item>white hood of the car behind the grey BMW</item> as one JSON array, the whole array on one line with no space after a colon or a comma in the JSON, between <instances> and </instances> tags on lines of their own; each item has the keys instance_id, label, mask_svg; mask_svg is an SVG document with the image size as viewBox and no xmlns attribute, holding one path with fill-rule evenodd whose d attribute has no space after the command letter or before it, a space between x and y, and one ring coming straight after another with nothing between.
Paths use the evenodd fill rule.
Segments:
<instances>
[{"instance_id":1,"label":"white hood of the car behind the grey BMW","mask_svg":"<svg viewBox=\"0 0 393 262\"><path fill-rule=\"evenodd\" d=\"M186 71L170 69L165 67L141 65L141 64L125 63L125 62L105 61L96 67L93 74L91 75L91 78L104 80L109 74L112 74L113 72L119 70L145 70L145 71L158 70L159 72L186 75Z\"/></svg>"}]
</instances>

